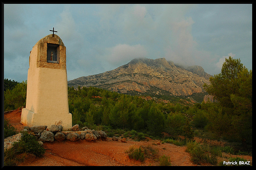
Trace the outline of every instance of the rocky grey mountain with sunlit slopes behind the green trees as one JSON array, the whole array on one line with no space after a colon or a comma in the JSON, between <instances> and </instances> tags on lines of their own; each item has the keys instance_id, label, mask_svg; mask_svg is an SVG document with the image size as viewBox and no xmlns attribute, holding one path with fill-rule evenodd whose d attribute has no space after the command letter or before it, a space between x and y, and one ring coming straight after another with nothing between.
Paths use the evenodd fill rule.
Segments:
<instances>
[{"instance_id":1,"label":"rocky grey mountain with sunlit slopes behind the green trees","mask_svg":"<svg viewBox=\"0 0 256 170\"><path fill-rule=\"evenodd\" d=\"M205 92L209 74L201 66L183 68L165 58L133 59L111 71L68 81L68 86L94 86L126 94L188 96Z\"/></svg>"}]
</instances>

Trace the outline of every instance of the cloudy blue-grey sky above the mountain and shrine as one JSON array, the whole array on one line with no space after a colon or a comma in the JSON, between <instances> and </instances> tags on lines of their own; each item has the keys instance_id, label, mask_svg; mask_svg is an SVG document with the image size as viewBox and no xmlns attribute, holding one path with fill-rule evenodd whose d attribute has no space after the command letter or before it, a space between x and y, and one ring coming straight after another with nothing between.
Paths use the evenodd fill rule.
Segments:
<instances>
[{"instance_id":1,"label":"cloudy blue-grey sky above the mountain and shrine","mask_svg":"<svg viewBox=\"0 0 256 170\"><path fill-rule=\"evenodd\" d=\"M139 57L215 75L231 56L252 69L251 4L5 4L4 78L27 80L30 51L53 27L67 48L68 80Z\"/></svg>"}]
</instances>

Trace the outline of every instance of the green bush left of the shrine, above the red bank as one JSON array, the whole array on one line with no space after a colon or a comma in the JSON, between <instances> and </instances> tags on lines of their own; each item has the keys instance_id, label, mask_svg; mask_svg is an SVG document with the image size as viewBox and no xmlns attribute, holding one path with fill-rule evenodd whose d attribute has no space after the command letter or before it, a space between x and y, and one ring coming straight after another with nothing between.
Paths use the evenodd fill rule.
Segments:
<instances>
[{"instance_id":1,"label":"green bush left of the shrine, above the red bank","mask_svg":"<svg viewBox=\"0 0 256 170\"><path fill-rule=\"evenodd\" d=\"M4 109L14 110L26 106L27 81L17 83L14 88L4 92Z\"/></svg>"}]
</instances>

